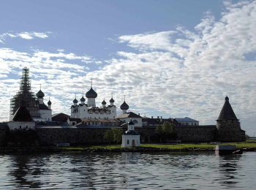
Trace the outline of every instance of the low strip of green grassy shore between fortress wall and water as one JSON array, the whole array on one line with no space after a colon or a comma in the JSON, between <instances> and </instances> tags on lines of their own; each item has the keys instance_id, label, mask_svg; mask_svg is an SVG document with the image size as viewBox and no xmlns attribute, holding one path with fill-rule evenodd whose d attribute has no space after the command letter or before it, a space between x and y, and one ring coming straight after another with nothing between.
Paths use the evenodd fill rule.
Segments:
<instances>
[{"instance_id":1,"label":"low strip of green grassy shore between fortress wall and water","mask_svg":"<svg viewBox=\"0 0 256 190\"><path fill-rule=\"evenodd\" d=\"M237 149L255 148L255 142L230 142L219 145L236 145ZM121 151L214 151L215 145L204 143L142 144L135 148L121 148L121 145L89 145L81 147L0 147L0 153L59 153L59 152L121 152Z\"/></svg>"}]
</instances>

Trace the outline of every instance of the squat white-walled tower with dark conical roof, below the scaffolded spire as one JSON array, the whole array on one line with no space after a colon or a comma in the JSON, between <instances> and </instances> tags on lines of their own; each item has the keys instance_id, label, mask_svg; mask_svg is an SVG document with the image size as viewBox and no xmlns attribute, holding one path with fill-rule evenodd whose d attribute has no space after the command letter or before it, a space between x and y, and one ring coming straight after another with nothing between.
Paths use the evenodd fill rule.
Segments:
<instances>
[{"instance_id":1,"label":"squat white-walled tower with dark conical roof, below the scaffolded spire","mask_svg":"<svg viewBox=\"0 0 256 190\"><path fill-rule=\"evenodd\" d=\"M13 115L12 121L8 122L8 126L10 130L34 130L36 123L31 117L29 110L22 106Z\"/></svg>"}]
</instances>

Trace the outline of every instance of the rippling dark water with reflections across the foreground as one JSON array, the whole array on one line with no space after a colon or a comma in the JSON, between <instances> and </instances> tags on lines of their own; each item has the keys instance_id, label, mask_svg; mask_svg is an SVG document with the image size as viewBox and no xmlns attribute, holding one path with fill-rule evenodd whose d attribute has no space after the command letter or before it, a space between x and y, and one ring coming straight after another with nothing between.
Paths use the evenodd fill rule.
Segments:
<instances>
[{"instance_id":1,"label":"rippling dark water with reflections across the foreground","mask_svg":"<svg viewBox=\"0 0 256 190\"><path fill-rule=\"evenodd\" d=\"M256 153L0 155L0 189L256 189Z\"/></svg>"}]
</instances>

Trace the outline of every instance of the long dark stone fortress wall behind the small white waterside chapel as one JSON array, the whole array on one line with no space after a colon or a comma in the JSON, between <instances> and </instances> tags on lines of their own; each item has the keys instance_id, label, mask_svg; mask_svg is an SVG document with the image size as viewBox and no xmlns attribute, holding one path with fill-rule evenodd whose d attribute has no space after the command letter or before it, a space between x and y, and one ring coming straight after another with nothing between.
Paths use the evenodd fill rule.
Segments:
<instances>
[{"instance_id":1,"label":"long dark stone fortress wall behind the small white waterside chapel","mask_svg":"<svg viewBox=\"0 0 256 190\"><path fill-rule=\"evenodd\" d=\"M39 145L54 145L61 142L69 142L70 145L97 145L108 143L104 139L106 130L108 129L37 128L34 135L37 137ZM156 139L156 128L153 126L137 127L135 130L140 132L141 142L154 142ZM178 134L177 140L181 140L181 142L212 142L216 141L217 137L216 126L175 126L175 130ZM14 133L18 133L18 131L14 131ZM4 139L5 135L6 131L1 132L0 130L0 138ZM16 137L17 135L13 134L12 136ZM15 140L10 138L10 141Z\"/></svg>"}]
</instances>

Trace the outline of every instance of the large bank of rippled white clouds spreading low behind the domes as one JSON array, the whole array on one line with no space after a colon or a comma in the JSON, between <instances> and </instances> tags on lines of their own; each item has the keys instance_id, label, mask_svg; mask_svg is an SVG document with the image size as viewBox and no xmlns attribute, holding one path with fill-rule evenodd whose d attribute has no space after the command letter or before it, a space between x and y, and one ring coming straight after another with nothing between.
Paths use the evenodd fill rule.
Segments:
<instances>
[{"instance_id":1,"label":"large bank of rippled white clouds spreading low behind the domes","mask_svg":"<svg viewBox=\"0 0 256 190\"><path fill-rule=\"evenodd\" d=\"M178 26L175 31L118 37L118 42L134 51L119 50L94 72L89 72L84 63L101 61L90 56L5 48L0 49L0 74L18 75L23 66L29 66L37 77L32 83L35 91L42 83L45 94L56 99L52 101L56 111L65 113L69 113L75 92L79 97L89 89L91 77L96 78L98 104L104 98L108 101L113 91L117 106L127 94L131 110L148 116L189 116L201 124L215 123L227 94L242 129L250 133L255 130L256 61L247 60L246 55L256 52L256 1L225 4L227 9L220 20L206 12L192 31ZM0 80L0 91L4 91L2 86L12 86L4 91L1 104L15 94L18 82L6 77ZM0 110L1 115L8 115L7 107Z\"/></svg>"}]
</instances>

